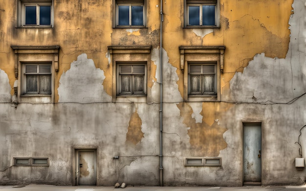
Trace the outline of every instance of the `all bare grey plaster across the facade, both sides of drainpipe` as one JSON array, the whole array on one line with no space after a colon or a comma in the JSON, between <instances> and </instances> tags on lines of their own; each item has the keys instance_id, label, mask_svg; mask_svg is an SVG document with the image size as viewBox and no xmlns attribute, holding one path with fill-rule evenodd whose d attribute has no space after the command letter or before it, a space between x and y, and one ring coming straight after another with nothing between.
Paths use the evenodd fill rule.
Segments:
<instances>
[{"instance_id":1,"label":"all bare grey plaster across the facade, both sides of drainpipe","mask_svg":"<svg viewBox=\"0 0 306 191\"><path fill-rule=\"evenodd\" d=\"M306 153L306 65L303 30L305 0L294 0L289 20L290 44L286 58L254 56L243 73L230 81L230 94L221 102L185 103L190 107L186 125L179 77L168 53L163 54L163 181L164 186L241 186L243 184L242 131L244 122L262 123L262 184L303 184L306 170L297 170L294 159ZM209 31L208 31L209 32ZM197 30L199 36L207 33ZM159 49L151 59L159 77ZM104 55L104 54L102 54ZM0 70L0 184L75 184L75 149L97 150L97 185L159 185L159 88L148 90L147 103L111 103L104 91L104 71L80 54L60 77L59 103L10 103L11 86ZM280 80L281 79L281 80ZM153 99L154 98L154 99ZM206 156L191 144L192 125L207 126L203 115L208 104L219 109L214 127L224 130L226 146L214 156L220 167L185 167L184 157ZM141 137L127 139L132 114L137 113ZM301 134L300 134L301 133ZM222 141L222 140L221 140ZM219 144L216 141L215 144ZM114 160L114 156L119 156ZM48 167L12 166L13 157L49 157Z\"/></svg>"}]
</instances>

